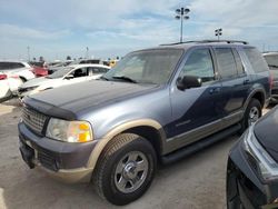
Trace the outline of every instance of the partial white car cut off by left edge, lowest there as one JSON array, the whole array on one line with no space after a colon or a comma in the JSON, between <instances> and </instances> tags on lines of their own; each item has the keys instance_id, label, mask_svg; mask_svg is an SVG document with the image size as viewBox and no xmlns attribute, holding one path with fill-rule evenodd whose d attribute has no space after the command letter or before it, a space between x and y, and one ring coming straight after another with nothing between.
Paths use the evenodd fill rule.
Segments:
<instances>
[{"instance_id":1,"label":"partial white car cut off by left edge, lowest there","mask_svg":"<svg viewBox=\"0 0 278 209\"><path fill-rule=\"evenodd\" d=\"M22 83L22 80L18 76L13 74L8 77L0 71L0 102L11 98L12 94L16 94L18 87Z\"/></svg>"}]
</instances>

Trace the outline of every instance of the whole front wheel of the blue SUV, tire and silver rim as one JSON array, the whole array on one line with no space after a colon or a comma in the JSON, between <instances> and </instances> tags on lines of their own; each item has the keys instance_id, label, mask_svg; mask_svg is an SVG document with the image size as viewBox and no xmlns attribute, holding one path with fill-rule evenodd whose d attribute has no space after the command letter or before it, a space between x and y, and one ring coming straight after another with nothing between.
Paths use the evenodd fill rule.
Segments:
<instances>
[{"instance_id":1,"label":"whole front wheel of the blue SUV, tire and silver rim","mask_svg":"<svg viewBox=\"0 0 278 209\"><path fill-rule=\"evenodd\" d=\"M151 143L122 133L103 150L93 177L98 193L117 206L140 198L155 177L157 157Z\"/></svg>"}]
</instances>

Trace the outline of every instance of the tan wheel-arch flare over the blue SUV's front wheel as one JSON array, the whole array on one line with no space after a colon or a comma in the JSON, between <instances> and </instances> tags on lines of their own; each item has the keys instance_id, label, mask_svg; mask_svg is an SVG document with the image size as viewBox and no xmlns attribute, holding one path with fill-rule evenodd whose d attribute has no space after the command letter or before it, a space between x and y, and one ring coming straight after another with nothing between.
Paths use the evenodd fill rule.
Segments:
<instances>
[{"instance_id":1,"label":"tan wheel-arch flare over the blue SUV's front wheel","mask_svg":"<svg viewBox=\"0 0 278 209\"><path fill-rule=\"evenodd\" d=\"M159 122L157 122L156 120L152 120L152 119L139 119L139 120L129 121L129 122L126 122L126 123L122 123L122 125L116 127L115 129L109 131L102 139L99 140L96 148L92 150L92 152L90 155L90 158L89 158L88 163L87 163L87 168L90 168L92 170L95 169L102 150L108 145L108 142L113 139L113 137L123 132L125 130L140 127L140 126L147 126L147 127L151 127L151 128L155 128L156 130L158 130L160 133L162 148L165 147L166 133L162 129L162 126Z\"/></svg>"}]
</instances>

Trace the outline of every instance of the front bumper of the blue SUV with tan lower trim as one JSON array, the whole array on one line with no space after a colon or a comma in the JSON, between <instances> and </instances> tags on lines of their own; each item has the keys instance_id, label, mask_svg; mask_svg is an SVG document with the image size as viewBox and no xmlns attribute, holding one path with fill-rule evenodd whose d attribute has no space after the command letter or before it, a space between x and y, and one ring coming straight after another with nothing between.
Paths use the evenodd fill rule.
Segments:
<instances>
[{"instance_id":1,"label":"front bumper of the blue SUV with tan lower trim","mask_svg":"<svg viewBox=\"0 0 278 209\"><path fill-rule=\"evenodd\" d=\"M69 143L34 135L23 122L18 126L20 152L30 168L39 167L64 182L89 182L93 168L88 161L97 141Z\"/></svg>"}]
</instances>

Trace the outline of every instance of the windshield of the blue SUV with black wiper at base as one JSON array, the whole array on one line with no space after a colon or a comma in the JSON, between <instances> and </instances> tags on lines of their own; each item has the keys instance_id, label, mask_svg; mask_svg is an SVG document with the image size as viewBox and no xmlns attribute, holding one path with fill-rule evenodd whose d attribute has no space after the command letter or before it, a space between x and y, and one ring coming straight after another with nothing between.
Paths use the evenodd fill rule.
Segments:
<instances>
[{"instance_id":1,"label":"windshield of the blue SUV with black wiper at base","mask_svg":"<svg viewBox=\"0 0 278 209\"><path fill-rule=\"evenodd\" d=\"M139 83L166 83L177 66L181 49L146 50L127 54L103 79Z\"/></svg>"}]
</instances>

